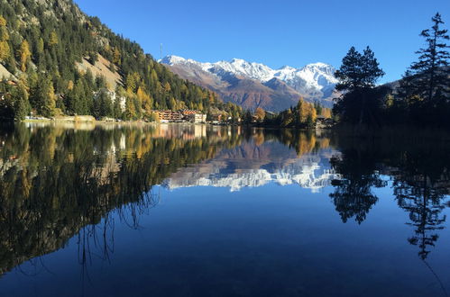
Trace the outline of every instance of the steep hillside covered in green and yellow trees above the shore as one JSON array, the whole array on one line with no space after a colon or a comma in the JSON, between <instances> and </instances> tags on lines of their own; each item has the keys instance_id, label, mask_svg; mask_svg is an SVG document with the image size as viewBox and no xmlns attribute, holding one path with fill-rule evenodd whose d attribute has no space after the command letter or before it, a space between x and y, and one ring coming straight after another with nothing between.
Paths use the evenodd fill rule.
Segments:
<instances>
[{"instance_id":1,"label":"steep hillside covered in green and yellow trees above the shore","mask_svg":"<svg viewBox=\"0 0 450 297\"><path fill-rule=\"evenodd\" d=\"M0 117L152 118L153 109L240 107L174 75L71 0L0 0Z\"/></svg>"}]
</instances>

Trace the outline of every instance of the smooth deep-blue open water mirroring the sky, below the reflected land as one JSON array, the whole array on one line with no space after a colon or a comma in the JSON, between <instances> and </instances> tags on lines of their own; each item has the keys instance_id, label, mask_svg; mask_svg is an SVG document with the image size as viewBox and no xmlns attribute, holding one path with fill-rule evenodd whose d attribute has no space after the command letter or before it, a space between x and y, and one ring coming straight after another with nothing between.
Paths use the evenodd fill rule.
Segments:
<instances>
[{"instance_id":1,"label":"smooth deep-blue open water mirroring the sky, below the reflected land","mask_svg":"<svg viewBox=\"0 0 450 297\"><path fill-rule=\"evenodd\" d=\"M408 213L396 206L392 189L374 189L379 201L361 225L342 223L327 186L311 193L297 184L265 184L230 193L226 188L153 188L161 202L139 215L131 229L118 213L110 260L91 242L84 286L78 238L42 257L37 276L14 272L0 284L6 295L37 292L90 295L441 295L436 278L407 238ZM125 211L129 222L131 211ZM101 224L97 236L101 239ZM113 230L109 230L111 238ZM450 235L429 258L436 274L448 272ZM92 240L92 238L91 238ZM41 267L41 266L38 266ZM30 264L21 267L33 272ZM270 279L270 282L268 281ZM448 281L444 283L449 287ZM26 284L26 285L24 285ZM344 284L344 285L343 285ZM9 294L8 294L9 293ZM346 294L351 293L351 294ZM293 296L293 295L292 295Z\"/></svg>"}]
</instances>

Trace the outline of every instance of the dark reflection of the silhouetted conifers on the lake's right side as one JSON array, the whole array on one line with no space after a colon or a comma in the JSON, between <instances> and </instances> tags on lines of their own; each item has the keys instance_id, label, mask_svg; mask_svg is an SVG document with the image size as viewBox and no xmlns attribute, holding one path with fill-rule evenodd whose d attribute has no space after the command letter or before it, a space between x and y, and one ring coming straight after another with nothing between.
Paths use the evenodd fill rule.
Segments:
<instances>
[{"instance_id":1,"label":"dark reflection of the silhouetted conifers on the lake's right side","mask_svg":"<svg viewBox=\"0 0 450 297\"><path fill-rule=\"evenodd\" d=\"M450 193L448 141L403 135L376 140L341 137L338 142L342 155L333 157L331 164L342 179L333 182L335 193L330 196L342 220L355 217L363 222L378 201L373 188L385 187L381 175L390 176L398 205L409 212L407 224L414 228L408 241L418 246L419 257L427 258L438 231L445 228L441 212Z\"/></svg>"}]
</instances>

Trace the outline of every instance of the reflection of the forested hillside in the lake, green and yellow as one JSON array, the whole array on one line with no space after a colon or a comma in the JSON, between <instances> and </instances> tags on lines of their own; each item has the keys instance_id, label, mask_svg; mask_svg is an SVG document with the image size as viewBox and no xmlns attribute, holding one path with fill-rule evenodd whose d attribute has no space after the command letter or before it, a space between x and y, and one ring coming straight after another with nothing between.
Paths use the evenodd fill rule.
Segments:
<instances>
[{"instance_id":1,"label":"reflection of the forested hillside in the lake, green and yellow","mask_svg":"<svg viewBox=\"0 0 450 297\"><path fill-rule=\"evenodd\" d=\"M207 138L205 127L198 132L197 126L68 128L20 125L0 135L2 274L64 247L87 225L103 221L107 227L110 211L127 209L132 216L122 217L136 226L136 214L157 202L154 184L239 141L223 130ZM93 230L79 235L83 263Z\"/></svg>"}]
</instances>

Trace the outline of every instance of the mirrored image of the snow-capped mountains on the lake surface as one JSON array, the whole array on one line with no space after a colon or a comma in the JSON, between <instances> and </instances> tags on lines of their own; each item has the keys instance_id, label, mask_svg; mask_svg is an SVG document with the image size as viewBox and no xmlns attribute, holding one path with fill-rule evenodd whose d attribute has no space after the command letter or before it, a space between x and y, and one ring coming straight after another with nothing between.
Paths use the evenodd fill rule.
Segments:
<instances>
[{"instance_id":1,"label":"mirrored image of the snow-capped mountains on the lake surface","mask_svg":"<svg viewBox=\"0 0 450 297\"><path fill-rule=\"evenodd\" d=\"M180 168L164 184L170 189L226 187L231 192L271 183L298 184L317 193L332 179L339 178L329 169L329 158L338 154L329 147L329 139L298 134L298 139L288 137L289 142L285 144L281 142L285 133L279 138L272 132L254 130L253 137L241 145L222 149L216 157L196 166Z\"/></svg>"}]
</instances>

